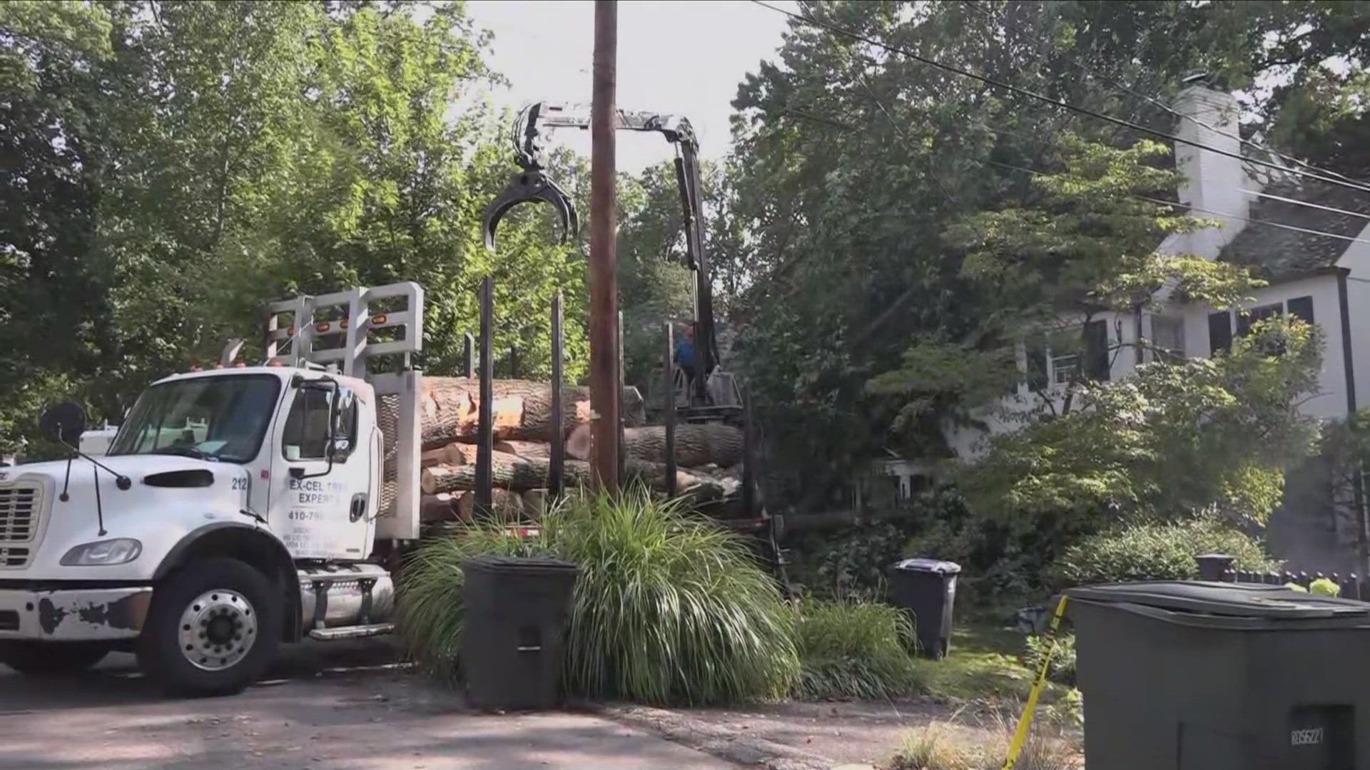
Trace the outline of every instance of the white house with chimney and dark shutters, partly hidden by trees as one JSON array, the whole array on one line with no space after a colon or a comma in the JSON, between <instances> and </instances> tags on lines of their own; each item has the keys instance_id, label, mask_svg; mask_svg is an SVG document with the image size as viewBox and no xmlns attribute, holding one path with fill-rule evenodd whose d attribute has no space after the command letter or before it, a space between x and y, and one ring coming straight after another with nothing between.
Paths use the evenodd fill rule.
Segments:
<instances>
[{"instance_id":1,"label":"white house with chimney and dark shutters, partly hidden by trees","mask_svg":"<svg viewBox=\"0 0 1370 770\"><path fill-rule=\"evenodd\" d=\"M1237 103L1230 93L1191 86L1174 108L1184 115L1175 136L1203 145L1175 142L1177 167L1185 178L1178 200L1195 216L1221 226L1174 234L1158 251L1245 264L1269 285L1236 310L1162 301L1158 312L1103 315L1084 329L1082 356L1077 351L1021 352L1019 367L1047 384L1064 382L1075 367L1117 380L1156 355L1136 345L1138 338L1175 355L1207 358L1228 348L1252 321L1289 314L1317 323L1326 340L1319 388L1302 406L1306 414L1336 419L1370 406L1370 192L1252 163L1256 158L1280 164L1237 138ZM1038 400L1028 385L1019 385L1014 396L980 415L982 429L949 429L952 449L963 458L980 454L988 436L1014 429L1015 417ZM1363 569L1363 555L1355 559L1348 552L1363 548L1358 533L1366 525L1333 521L1356 514L1328 515L1334 506L1326 503L1325 474L1314 466L1291 474L1284 510L1270 523L1271 543L1297 569Z\"/></svg>"}]
</instances>

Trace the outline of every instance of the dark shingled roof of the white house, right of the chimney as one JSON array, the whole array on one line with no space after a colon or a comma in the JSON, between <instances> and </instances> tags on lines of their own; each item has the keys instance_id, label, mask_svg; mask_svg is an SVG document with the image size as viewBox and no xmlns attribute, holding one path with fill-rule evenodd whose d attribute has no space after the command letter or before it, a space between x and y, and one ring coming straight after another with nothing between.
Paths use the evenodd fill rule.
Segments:
<instances>
[{"instance_id":1,"label":"dark shingled roof of the white house, right of the chimney","mask_svg":"<svg viewBox=\"0 0 1370 770\"><path fill-rule=\"evenodd\" d=\"M1340 208L1370 216L1370 193L1326 182L1281 182L1265 189L1267 195ZM1332 267L1345 253L1351 241L1370 225L1366 216L1337 214L1326 208L1302 206L1271 197L1258 197L1251 204L1248 222L1218 259L1256 267L1269 280L1293 278ZM1258 222L1259 221L1259 222ZM1314 234L1285 227L1271 227L1260 222L1277 222ZM1345 236L1338 238L1336 236Z\"/></svg>"}]
</instances>

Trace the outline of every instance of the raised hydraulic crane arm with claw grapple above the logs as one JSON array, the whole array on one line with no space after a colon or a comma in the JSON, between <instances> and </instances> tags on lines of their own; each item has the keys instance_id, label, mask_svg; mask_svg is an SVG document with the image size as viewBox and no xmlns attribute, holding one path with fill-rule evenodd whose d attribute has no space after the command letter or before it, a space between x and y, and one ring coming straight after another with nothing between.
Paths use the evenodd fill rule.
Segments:
<instances>
[{"instance_id":1,"label":"raised hydraulic crane arm with claw grapple above the logs","mask_svg":"<svg viewBox=\"0 0 1370 770\"><path fill-rule=\"evenodd\" d=\"M495 248L495 229L510 208L521 203L552 204L562 225L562 240L574 236L578 219L571 197L549 179L547 141L552 129L589 129L588 110L567 110L560 104L540 101L526 107L514 122L514 152L521 170L486 208L482 234L485 245ZM695 271L695 367L696 393L706 399L706 378L718 363L714 337L714 288L704 252L704 219L700 203L699 140L689 121L675 115L618 111L619 130L656 132L675 147L675 184L680 188L685 223L685 259Z\"/></svg>"}]
</instances>

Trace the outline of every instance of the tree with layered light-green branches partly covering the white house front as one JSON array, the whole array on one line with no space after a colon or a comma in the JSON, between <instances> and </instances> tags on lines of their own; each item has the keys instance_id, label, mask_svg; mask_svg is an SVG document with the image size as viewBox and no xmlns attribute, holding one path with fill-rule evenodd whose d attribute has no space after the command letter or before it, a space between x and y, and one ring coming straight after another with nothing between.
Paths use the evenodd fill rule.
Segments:
<instances>
[{"instance_id":1,"label":"tree with layered light-green branches partly covering the white house front","mask_svg":"<svg viewBox=\"0 0 1370 770\"><path fill-rule=\"evenodd\" d=\"M948 395L967 408L1001 400L1023 378L1012 344L1026 348L1037 406L1066 414L1075 392L1107 380L1119 355L1158 352L1145 338L1125 338L1122 319L1158 310L1164 299L1230 307L1263 284L1244 267L1156 251L1166 234L1203 225L1159 203L1180 184L1175 170L1155 164L1164 147L1138 141L1115 148L1070 133L1058 142L1051 159L1058 170L1029 174L1022 197L951 226L948 240L966 249L963 278L995 308L980 337L1003 345L915 341L904 366L869 386L903 401L901 421L938 410ZM1099 330L1093 338L1092 329ZM1044 360L1048 347L1054 356L1074 353L1081 364L1056 382L1044 371L1037 377L1032 359ZM1058 385L1066 385L1064 397Z\"/></svg>"}]
</instances>

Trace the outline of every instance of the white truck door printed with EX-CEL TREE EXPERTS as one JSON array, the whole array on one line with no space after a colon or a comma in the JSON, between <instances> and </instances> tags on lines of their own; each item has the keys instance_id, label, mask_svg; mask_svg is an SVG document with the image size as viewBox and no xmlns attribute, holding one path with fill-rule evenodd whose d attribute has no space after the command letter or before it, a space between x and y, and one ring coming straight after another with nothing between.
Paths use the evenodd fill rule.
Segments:
<instances>
[{"instance_id":1,"label":"white truck door printed with EX-CEL TREE EXPERTS","mask_svg":"<svg viewBox=\"0 0 1370 770\"><path fill-rule=\"evenodd\" d=\"M318 380L296 386L288 403L273 452L267 521L297 559L364 559L379 489L375 443L359 427L375 423L374 406L347 385Z\"/></svg>"}]
</instances>

